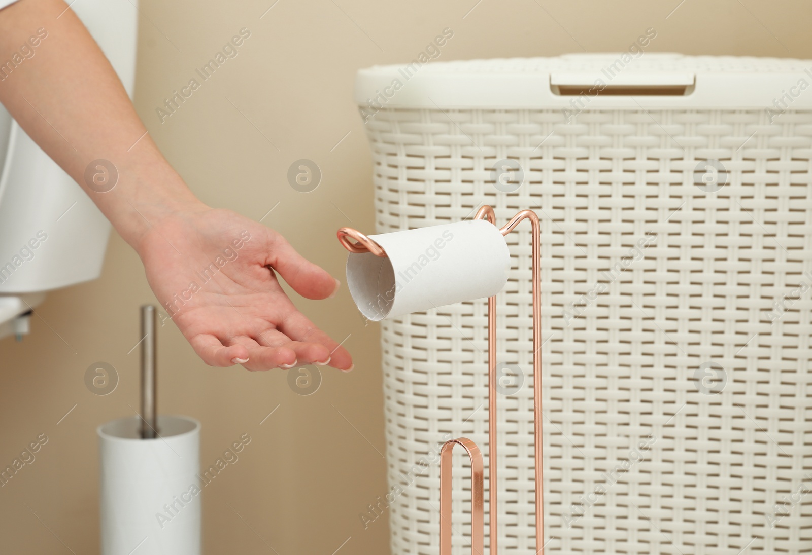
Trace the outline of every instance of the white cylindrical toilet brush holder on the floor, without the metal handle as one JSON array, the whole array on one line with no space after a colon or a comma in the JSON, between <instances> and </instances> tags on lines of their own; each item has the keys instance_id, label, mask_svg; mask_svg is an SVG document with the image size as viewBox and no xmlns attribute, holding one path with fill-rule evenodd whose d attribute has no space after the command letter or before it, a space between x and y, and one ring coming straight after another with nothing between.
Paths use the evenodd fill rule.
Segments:
<instances>
[{"instance_id":1,"label":"white cylindrical toilet brush holder on the floor, without the metal handle","mask_svg":"<svg viewBox=\"0 0 812 555\"><path fill-rule=\"evenodd\" d=\"M200 555L200 423L158 416L154 439L139 425L134 416L97 428L102 555Z\"/></svg>"}]
</instances>

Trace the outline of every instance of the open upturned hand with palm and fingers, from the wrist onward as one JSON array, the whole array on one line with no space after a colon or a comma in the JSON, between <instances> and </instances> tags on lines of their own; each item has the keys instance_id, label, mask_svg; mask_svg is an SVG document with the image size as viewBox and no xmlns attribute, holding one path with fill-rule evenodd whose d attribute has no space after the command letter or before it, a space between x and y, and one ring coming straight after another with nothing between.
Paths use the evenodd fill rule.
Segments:
<instances>
[{"instance_id":1,"label":"open upturned hand with palm and fingers, from the wrist onward","mask_svg":"<svg viewBox=\"0 0 812 555\"><path fill-rule=\"evenodd\" d=\"M352 357L296 310L278 275L307 299L331 297L339 282L274 230L193 204L150 222L136 250L149 286L206 364L352 370Z\"/></svg>"}]
</instances>

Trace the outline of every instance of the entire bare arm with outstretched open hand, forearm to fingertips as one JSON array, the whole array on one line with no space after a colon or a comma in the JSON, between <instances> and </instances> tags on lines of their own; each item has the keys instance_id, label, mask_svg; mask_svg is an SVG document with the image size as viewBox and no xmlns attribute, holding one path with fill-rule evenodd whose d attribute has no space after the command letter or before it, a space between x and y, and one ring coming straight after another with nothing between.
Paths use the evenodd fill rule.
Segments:
<instances>
[{"instance_id":1,"label":"entire bare arm with outstretched open hand, forearm to fingertips","mask_svg":"<svg viewBox=\"0 0 812 555\"><path fill-rule=\"evenodd\" d=\"M349 353L296 310L278 276L309 299L335 294L338 282L281 234L192 195L65 2L0 10L4 60L0 102L136 249L149 286L207 364L352 369ZM118 174L109 191L107 161Z\"/></svg>"}]
</instances>

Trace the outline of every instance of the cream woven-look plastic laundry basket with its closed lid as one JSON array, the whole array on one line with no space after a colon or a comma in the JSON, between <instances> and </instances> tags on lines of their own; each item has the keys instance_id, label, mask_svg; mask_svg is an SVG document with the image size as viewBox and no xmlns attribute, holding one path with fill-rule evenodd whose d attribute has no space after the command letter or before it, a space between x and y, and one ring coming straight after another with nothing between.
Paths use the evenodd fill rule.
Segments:
<instances>
[{"instance_id":1,"label":"cream woven-look plastic laundry basket with its closed lid","mask_svg":"<svg viewBox=\"0 0 812 555\"><path fill-rule=\"evenodd\" d=\"M541 217L546 553L812 553L812 61L641 53L360 71L376 231ZM501 553L535 547L519 230ZM438 442L487 456L486 330L484 299L382 322L391 490L361 518L395 555L438 553Z\"/></svg>"}]
</instances>

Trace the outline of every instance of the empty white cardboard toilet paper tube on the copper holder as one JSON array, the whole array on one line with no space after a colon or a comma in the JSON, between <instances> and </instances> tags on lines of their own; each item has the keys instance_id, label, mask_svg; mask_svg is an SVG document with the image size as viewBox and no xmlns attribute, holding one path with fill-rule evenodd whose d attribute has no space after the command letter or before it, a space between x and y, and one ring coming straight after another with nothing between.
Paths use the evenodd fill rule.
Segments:
<instances>
[{"instance_id":1,"label":"empty white cardboard toilet paper tube on the copper holder","mask_svg":"<svg viewBox=\"0 0 812 555\"><path fill-rule=\"evenodd\" d=\"M510 252L484 220L369 235L387 252L351 253L347 285L372 321L496 295L508 281Z\"/></svg>"}]
</instances>

